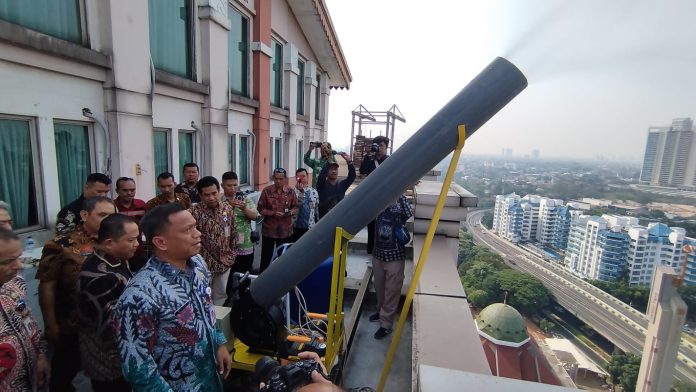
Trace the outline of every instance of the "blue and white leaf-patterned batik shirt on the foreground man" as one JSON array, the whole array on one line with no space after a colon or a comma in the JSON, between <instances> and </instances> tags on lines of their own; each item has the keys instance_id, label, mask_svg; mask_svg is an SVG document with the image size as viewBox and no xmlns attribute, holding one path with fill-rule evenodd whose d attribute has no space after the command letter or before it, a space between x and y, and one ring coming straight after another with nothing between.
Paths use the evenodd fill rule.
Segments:
<instances>
[{"instance_id":1,"label":"blue and white leaf-patterned batik shirt on the foreground man","mask_svg":"<svg viewBox=\"0 0 696 392\"><path fill-rule=\"evenodd\" d=\"M222 391L215 366L225 336L215 327L210 272L152 257L114 307L123 374L133 391Z\"/></svg>"}]
</instances>

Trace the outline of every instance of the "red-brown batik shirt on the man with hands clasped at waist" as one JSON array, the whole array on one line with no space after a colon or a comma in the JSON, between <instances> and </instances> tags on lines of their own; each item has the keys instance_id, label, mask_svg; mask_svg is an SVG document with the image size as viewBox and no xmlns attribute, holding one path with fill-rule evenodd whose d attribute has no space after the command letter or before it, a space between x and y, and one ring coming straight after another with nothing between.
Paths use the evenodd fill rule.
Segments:
<instances>
[{"instance_id":1,"label":"red-brown batik shirt on the man with hands clasped at waist","mask_svg":"<svg viewBox=\"0 0 696 392\"><path fill-rule=\"evenodd\" d=\"M287 186L276 189L275 185L269 185L261 191L258 211L265 217L262 233L269 238L284 239L292 235L292 215L297 213L297 196L295 191ZM282 212L281 217L275 216L276 212Z\"/></svg>"}]
</instances>

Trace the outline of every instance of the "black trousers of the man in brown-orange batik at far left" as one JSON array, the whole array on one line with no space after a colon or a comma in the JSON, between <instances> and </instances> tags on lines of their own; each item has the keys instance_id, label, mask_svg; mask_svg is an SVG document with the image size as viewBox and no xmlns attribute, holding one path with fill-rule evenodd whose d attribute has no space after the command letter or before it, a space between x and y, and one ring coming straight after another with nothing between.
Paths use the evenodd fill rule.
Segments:
<instances>
[{"instance_id":1,"label":"black trousers of the man in brown-orange batik at far left","mask_svg":"<svg viewBox=\"0 0 696 392\"><path fill-rule=\"evenodd\" d=\"M51 392L74 391L72 381L81 367L77 335L61 335L60 344L53 349L51 381L48 383L48 389Z\"/></svg>"}]
</instances>

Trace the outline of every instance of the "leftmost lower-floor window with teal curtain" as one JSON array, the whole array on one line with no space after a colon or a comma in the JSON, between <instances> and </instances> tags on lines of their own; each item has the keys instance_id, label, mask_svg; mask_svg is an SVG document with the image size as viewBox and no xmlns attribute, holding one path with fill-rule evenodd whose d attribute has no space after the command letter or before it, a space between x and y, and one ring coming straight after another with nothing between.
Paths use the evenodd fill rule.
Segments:
<instances>
[{"instance_id":1,"label":"leftmost lower-floor window with teal curtain","mask_svg":"<svg viewBox=\"0 0 696 392\"><path fill-rule=\"evenodd\" d=\"M38 156L34 123L0 118L0 200L10 205L12 223L18 231L41 223Z\"/></svg>"}]
</instances>

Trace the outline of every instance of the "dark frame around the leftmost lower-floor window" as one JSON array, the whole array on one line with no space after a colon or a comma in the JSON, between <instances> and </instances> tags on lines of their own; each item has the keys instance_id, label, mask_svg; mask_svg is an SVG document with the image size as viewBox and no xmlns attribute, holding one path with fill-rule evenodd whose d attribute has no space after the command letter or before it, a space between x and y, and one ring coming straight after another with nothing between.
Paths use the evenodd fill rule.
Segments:
<instances>
[{"instance_id":1,"label":"dark frame around the leftmost lower-floor window","mask_svg":"<svg viewBox=\"0 0 696 392\"><path fill-rule=\"evenodd\" d=\"M29 145L31 148L31 164L34 175L34 189L36 190L37 195L44 195L44 197L36 197L35 207L37 223L35 225L30 225L21 229L13 228L13 231L17 234L23 234L46 229L48 227L48 213L46 211L46 192L44 192L43 187L43 165L41 162L41 149L39 145L39 130L37 127L37 119L35 117L30 116L0 113L0 120L26 121L28 123ZM14 220L14 216L12 217L12 219Z\"/></svg>"}]
</instances>

